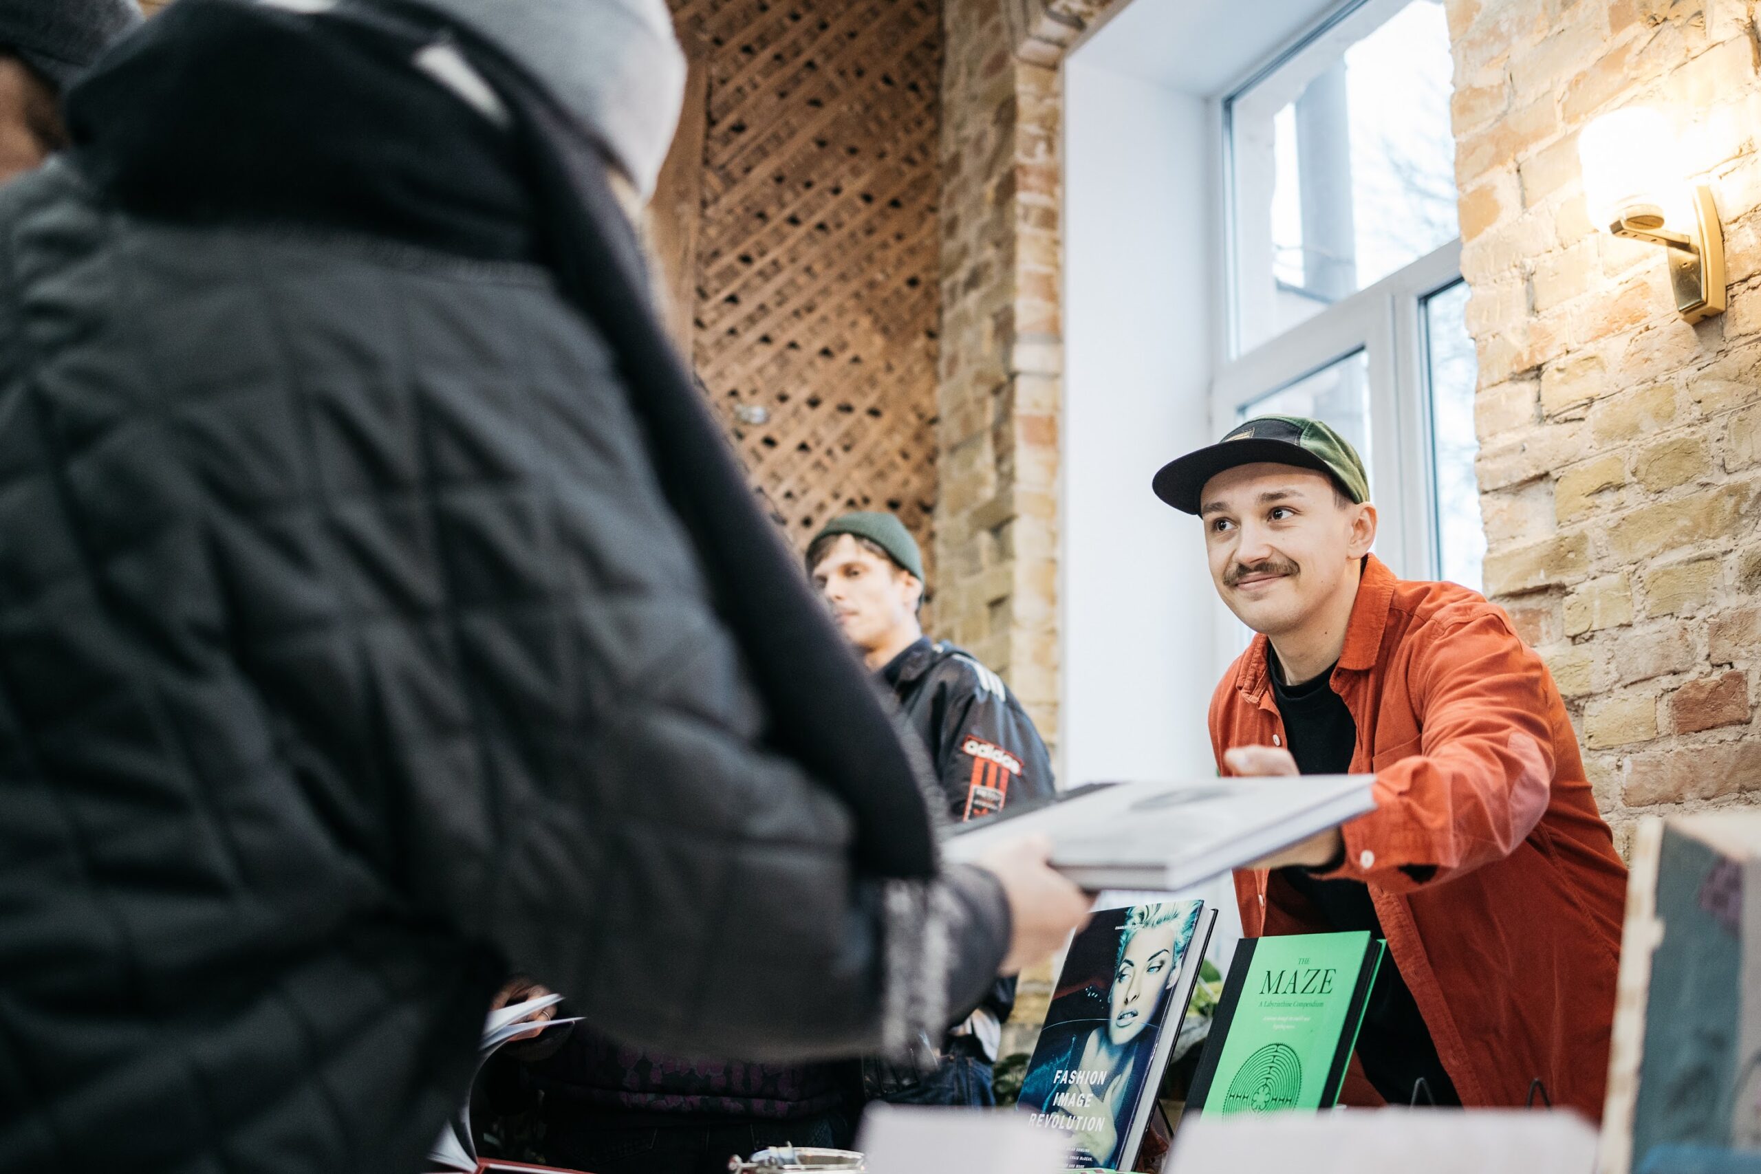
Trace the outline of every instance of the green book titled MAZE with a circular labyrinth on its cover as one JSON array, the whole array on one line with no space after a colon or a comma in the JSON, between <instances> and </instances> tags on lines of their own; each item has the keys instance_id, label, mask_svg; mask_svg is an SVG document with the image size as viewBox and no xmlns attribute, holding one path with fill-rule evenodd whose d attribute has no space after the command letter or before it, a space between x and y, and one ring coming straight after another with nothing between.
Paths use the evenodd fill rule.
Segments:
<instances>
[{"instance_id":1,"label":"green book titled MAZE with a circular labyrinth on its cover","mask_svg":"<svg viewBox=\"0 0 1761 1174\"><path fill-rule=\"evenodd\" d=\"M1382 949L1368 931L1245 938L1229 965L1187 1112L1331 1107Z\"/></svg>"}]
</instances>

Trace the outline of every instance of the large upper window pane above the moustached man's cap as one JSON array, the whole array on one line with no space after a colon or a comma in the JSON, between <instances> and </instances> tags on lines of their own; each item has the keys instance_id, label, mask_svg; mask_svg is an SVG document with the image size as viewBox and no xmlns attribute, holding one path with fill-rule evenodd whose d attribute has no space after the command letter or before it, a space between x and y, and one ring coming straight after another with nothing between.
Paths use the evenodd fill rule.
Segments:
<instances>
[{"instance_id":1,"label":"large upper window pane above the moustached man's cap","mask_svg":"<svg viewBox=\"0 0 1761 1174\"><path fill-rule=\"evenodd\" d=\"M1456 236L1451 72L1440 0L1412 0L1229 100L1243 350Z\"/></svg>"}]
</instances>

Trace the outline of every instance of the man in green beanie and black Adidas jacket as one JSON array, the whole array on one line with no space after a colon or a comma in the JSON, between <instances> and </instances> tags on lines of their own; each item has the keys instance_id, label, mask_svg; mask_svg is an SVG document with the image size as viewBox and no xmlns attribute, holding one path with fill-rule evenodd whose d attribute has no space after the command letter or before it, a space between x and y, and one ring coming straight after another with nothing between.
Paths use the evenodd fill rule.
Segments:
<instances>
[{"instance_id":1,"label":"man in green beanie and black Adidas jacket","mask_svg":"<svg viewBox=\"0 0 1761 1174\"><path fill-rule=\"evenodd\" d=\"M845 639L928 746L953 818L1051 794L1046 743L1009 686L970 653L923 634L923 554L905 523L873 512L836 517L807 547L807 569ZM868 1093L893 1104L995 1104L991 1065L1013 1007L1014 980L998 979L939 1047L923 1040L912 1065L866 1063Z\"/></svg>"}]
</instances>

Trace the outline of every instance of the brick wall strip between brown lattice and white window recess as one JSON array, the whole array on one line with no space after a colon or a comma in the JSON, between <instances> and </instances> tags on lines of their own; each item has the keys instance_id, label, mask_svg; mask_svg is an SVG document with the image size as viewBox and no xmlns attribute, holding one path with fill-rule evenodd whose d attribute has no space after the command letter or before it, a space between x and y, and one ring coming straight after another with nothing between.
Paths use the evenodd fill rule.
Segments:
<instances>
[{"instance_id":1,"label":"brick wall strip between brown lattice and white window recess","mask_svg":"<svg viewBox=\"0 0 1761 1174\"><path fill-rule=\"evenodd\" d=\"M1058 62L1113 0L947 0L942 630L1058 737Z\"/></svg>"}]
</instances>

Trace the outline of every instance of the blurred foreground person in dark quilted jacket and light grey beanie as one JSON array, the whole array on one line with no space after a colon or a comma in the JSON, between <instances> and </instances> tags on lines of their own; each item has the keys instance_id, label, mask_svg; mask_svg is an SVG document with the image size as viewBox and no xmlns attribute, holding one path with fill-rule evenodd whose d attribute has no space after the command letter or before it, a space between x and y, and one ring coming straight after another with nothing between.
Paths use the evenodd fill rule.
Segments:
<instances>
[{"instance_id":1,"label":"blurred foreground person in dark quilted jacket and light grey beanie","mask_svg":"<svg viewBox=\"0 0 1761 1174\"><path fill-rule=\"evenodd\" d=\"M798 1063L1081 921L650 308L682 92L662 0L178 0L0 188L0 1172L409 1174L511 972Z\"/></svg>"}]
</instances>

